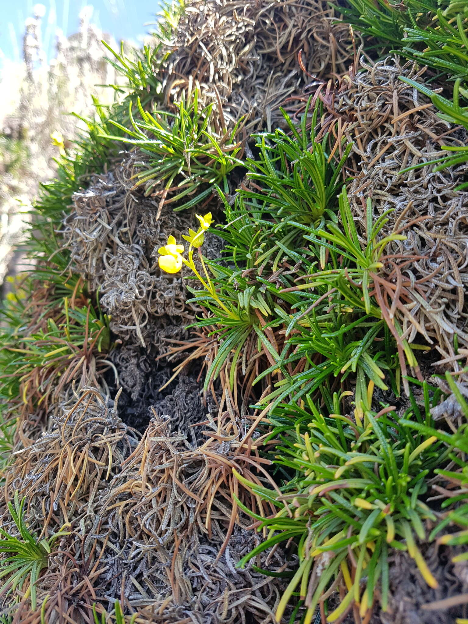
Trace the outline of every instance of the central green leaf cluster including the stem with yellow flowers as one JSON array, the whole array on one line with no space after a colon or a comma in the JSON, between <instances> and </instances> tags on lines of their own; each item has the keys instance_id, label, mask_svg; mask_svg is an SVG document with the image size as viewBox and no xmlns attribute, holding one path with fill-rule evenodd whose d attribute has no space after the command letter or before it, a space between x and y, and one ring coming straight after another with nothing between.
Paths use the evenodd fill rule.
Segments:
<instances>
[{"instance_id":1,"label":"central green leaf cluster including the stem with yellow flowers","mask_svg":"<svg viewBox=\"0 0 468 624\"><path fill-rule=\"evenodd\" d=\"M399 326L376 301L374 274L383 266L386 245L406 237L396 233L379 237L389 217L383 215L373 223L368 202L368 239L361 248L346 191L338 195L350 146L339 162L329 163L328 137L321 143L314 140L316 112L309 130L307 109L298 130L284 115L293 135L283 130L259 135L259 157L246 161L247 185L238 190L232 207L224 198L227 224L220 235L227 241L228 267L213 261L205 266L200 256L205 277L198 274L192 260L193 241L200 236L195 232L189 239L189 261L175 245L173 255L160 258L163 270L177 271L183 262L192 268L204 289L193 291L193 301L212 313L197 326L220 327L221 346L207 383L230 359L235 344L233 375L250 342L253 349L258 344L271 363L258 381L278 377L277 389L262 399L266 403L275 399L273 407L285 397L299 398L326 381L333 384L339 375L344 381L356 372L358 378L367 376L388 390L384 369L399 392L401 368L406 375L406 363L417 369L417 362L400 338ZM170 267L165 266L167 257ZM295 270L286 270L293 266ZM270 275L275 275L274 281ZM272 343L273 330L281 338ZM400 348L400 366L389 357L394 343Z\"/></svg>"}]
</instances>

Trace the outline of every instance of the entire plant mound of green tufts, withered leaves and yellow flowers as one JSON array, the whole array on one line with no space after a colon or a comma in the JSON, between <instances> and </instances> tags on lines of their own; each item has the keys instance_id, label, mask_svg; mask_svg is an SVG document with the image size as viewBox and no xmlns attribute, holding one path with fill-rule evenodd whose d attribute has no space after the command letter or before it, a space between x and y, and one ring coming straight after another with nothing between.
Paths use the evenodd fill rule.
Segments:
<instances>
[{"instance_id":1,"label":"entire plant mound of green tufts, withered leaves and yellow flowers","mask_svg":"<svg viewBox=\"0 0 468 624\"><path fill-rule=\"evenodd\" d=\"M21 621L99 624L108 600L117 622L384 623L401 556L427 608L463 622L461 139L431 160L464 125L467 16L457 2L341 4L369 55L390 42L427 60L431 89L388 59L339 80L353 35L323 2L253 16L193 0L165 10L154 47L110 50L120 99L95 102L87 135L52 135L36 264L2 310L0 577ZM324 25L346 44L311 78L301 46ZM440 69L453 102L433 90ZM247 74L270 95L284 79L260 115L258 93L238 100ZM155 407L176 404L187 371L197 396L205 374L202 422L187 393L180 414ZM119 376L148 390L141 434L123 422ZM59 536L67 550L51 557ZM442 545L457 581L438 600Z\"/></svg>"}]
</instances>

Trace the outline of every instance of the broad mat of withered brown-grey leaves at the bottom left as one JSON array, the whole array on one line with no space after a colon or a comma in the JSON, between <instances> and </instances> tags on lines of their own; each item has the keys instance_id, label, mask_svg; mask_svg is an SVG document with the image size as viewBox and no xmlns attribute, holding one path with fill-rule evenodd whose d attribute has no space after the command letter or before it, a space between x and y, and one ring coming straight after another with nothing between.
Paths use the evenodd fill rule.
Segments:
<instances>
[{"instance_id":1,"label":"broad mat of withered brown-grey leaves at the bottom left","mask_svg":"<svg viewBox=\"0 0 468 624\"><path fill-rule=\"evenodd\" d=\"M2 527L16 531L5 509L15 490L26 496L32 534L42 539L69 525L37 583L38 603L49 596L46 622L92 622L92 604L107 603L110 612L116 598L155 622L237 623L247 613L248 622L275 621L284 581L235 567L261 541L246 531L236 499L260 514L273 509L233 469L271 485L269 462L241 442L250 423L223 405L193 447L156 414L140 439L118 416L118 396L112 402L89 388L16 454L1 490ZM274 550L255 563L283 571L285 561ZM29 609L23 600L14 621L36 622Z\"/></svg>"}]
</instances>

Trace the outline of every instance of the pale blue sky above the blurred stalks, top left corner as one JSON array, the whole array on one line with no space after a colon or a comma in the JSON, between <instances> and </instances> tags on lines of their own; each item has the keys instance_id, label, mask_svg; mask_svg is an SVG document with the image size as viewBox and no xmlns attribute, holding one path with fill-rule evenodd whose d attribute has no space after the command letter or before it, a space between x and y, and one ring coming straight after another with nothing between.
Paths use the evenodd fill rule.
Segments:
<instances>
[{"instance_id":1,"label":"pale blue sky above the blurred stalks, top left corner","mask_svg":"<svg viewBox=\"0 0 468 624\"><path fill-rule=\"evenodd\" d=\"M32 16L37 4L32 0L1 0L2 19L0 21L0 57L12 61L21 58L24 20ZM84 6L94 7L92 22L104 32L120 39L139 41L148 31L145 23L154 21L160 9L159 0L43 0L46 7L42 20L42 36L47 44L49 57L54 49L56 29L67 35L76 32L79 12Z\"/></svg>"}]
</instances>

